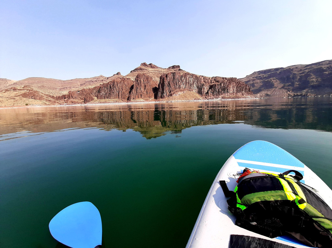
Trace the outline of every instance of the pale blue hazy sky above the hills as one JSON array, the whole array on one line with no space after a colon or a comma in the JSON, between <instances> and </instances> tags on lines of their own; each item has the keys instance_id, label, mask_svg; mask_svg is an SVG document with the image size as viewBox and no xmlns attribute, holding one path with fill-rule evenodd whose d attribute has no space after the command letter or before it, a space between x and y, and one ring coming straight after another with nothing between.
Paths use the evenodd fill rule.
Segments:
<instances>
[{"instance_id":1,"label":"pale blue hazy sky above the hills","mask_svg":"<svg viewBox=\"0 0 332 248\"><path fill-rule=\"evenodd\" d=\"M331 0L1 0L0 78L126 75L142 62L242 78L332 59L331 13Z\"/></svg>"}]
</instances>

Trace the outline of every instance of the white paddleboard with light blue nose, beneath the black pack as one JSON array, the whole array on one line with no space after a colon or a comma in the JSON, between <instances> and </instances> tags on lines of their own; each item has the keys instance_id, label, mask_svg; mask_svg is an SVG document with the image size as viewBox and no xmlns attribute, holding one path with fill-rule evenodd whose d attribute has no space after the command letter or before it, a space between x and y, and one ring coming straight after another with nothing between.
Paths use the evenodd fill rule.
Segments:
<instances>
[{"instance_id":1,"label":"white paddleboard with light blue nose, beneath the black pack","mask_svg":"<svg viewBox=\"0 0 332 248\"><path fill-rule=\"evenodd\" d=\"M235 216L228 211L228 204L219 184L225 180L229 190L237 185L235 174L247 167L260 172L283 173L297 170L305 184L318 190L318 194L332 208L332 190L307 166L282 148L266 142L252 141L237 150L220 169L207 194L186 248L229 247L231 234L253 236L294 247L306 247L288 237L269 238L235 225Z\"/></svg>"}]
</instances>

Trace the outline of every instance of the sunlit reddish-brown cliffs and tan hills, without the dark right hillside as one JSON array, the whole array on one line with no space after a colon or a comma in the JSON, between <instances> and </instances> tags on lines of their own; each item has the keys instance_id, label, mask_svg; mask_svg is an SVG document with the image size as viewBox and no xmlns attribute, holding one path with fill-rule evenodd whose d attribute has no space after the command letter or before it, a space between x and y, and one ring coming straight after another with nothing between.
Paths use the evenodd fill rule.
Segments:
<instances>
[{"instance_id":1,"label":"sunlit reddish-brown cliffs and tan hills, without the dark right hillside","mask_svg":"<svg viewBox=\"0 0 332 248\"><path fill-rule=\"evenodd\" d=\"M126 76L118 72L112 77L100 75L89 79L27 78L6 83L3 88L0 105L5 106L253 96L250 88L236 78L199 76L178 65L161 68L147 63L142 63Z\"/></svg>"}]
</instances>

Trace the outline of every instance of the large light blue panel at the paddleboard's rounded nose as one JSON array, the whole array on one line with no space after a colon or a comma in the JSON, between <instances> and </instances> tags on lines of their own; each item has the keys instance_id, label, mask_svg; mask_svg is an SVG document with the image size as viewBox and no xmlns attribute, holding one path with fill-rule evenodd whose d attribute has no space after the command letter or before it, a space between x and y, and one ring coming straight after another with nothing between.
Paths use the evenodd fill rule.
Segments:
<instances>
[{"instance_id":1,"label":"large light blue panel at the paddleboard's rounded nose","mask_svg":"<svg viewBox=\"0 0 332 248\"><path fill-rule=\"evenodd\" d=\"M304 168L304 164L296 157L286 152L284 149L267 141L252 141L237 150L233 156L236 159L283 164Z\"/></svg>"}]
</instances>

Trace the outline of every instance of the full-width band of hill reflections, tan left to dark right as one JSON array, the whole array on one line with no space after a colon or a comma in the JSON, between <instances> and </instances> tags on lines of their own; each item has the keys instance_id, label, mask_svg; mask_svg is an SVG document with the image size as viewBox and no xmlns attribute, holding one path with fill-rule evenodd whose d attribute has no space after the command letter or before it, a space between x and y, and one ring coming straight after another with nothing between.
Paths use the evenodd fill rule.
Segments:
<instances>
[{"instance_id":1,"label":"full-width band of hill reflections, tan left to dark right","mask_svg":"<svg viewBox=\"0 0 332 248\"><path fill-rule=\"evenodd\" d=\"M151 104L112 108L76 106L0 110L0 134L52 132L67 128L138 131L147 139L192 126L244 121L265 128L332 131L330 100L262 100Z\"/></svg>"}]
</instances>

